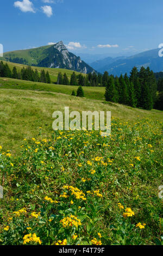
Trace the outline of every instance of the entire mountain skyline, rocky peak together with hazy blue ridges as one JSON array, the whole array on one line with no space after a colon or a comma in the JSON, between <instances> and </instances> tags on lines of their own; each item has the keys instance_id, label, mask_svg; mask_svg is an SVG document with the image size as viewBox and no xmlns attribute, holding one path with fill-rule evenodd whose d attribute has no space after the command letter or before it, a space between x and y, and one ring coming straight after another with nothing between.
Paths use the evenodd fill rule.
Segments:
<instances>
[{"instance_id":1,"label":"entire mountain skyline, rocky peak together with hazy blue ridges","mask_svg":"<svg viewBox=\"0 0 163 256\"><path fill-rule=\"evenodd\" d=\"M3 60L26 64L31 66L42 66L45 68L62 68L69 69L84 74L93 71L103 73L108 71L109 74L120 76L125 73L129 74L131 69L136 66L140 69L141 66L147 68L149 66L154 72L163 71L163 57L159 57L160 49L154 49L135 54L131 57L106 57L100 60L93 61L90 65L86 64L80 57L68 52L66 46L62 41L54 45L42 46L28 50L11 51L4 53ZM96 54L92 57L91 54L82 54L84 59L98 58L100 55ZM102 57L103 55L101 55Z\"/></svg>"}]
</instances>

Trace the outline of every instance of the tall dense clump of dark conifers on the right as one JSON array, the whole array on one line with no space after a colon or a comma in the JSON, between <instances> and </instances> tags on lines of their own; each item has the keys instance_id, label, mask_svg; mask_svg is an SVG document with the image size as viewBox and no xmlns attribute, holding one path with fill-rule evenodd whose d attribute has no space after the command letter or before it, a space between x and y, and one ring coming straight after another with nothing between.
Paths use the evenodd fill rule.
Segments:
<instances>
[{"instance_id":1,"label":"tall dense clump of dark conifers on the right","mask_svg":"<svg viewBox=\"0 0 163 256\"><path fill-rule=\"evenodd\" d=\"M151 110L156 102L157 83L152 70L134 67L130 76L110 76L105 89L106 101Z\"/></svg>"}]
</instances>

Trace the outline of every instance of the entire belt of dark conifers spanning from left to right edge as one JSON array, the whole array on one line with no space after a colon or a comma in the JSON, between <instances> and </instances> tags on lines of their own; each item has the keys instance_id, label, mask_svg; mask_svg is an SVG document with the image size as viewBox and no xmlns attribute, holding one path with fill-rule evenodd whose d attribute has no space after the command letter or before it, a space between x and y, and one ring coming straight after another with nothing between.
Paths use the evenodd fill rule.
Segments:
<instances>
[{"instance_id":1,"label":"entire belt of dark conifers spanning from left to right edge","mask_svg":"<svg viewBox=\"0 0 163 256\"><path fill-rule=\"evenodd\" d=\"M16 67L11 70L8 64L0 63L0 76L33 82L51 83L49 72L41 70L41 73L31 66L17 71ZM87 75L73 72L70 80L66 72L59 72L57 84L70 86L105 87L105 100L121 103L130 107L151 110L152 108L163 110L163 77L162 74L154 74L152 70L141 67L140 71L134 66L130 75L113 76L107 71L104 74L96 72Z\"/></svg>"}]
</instances>

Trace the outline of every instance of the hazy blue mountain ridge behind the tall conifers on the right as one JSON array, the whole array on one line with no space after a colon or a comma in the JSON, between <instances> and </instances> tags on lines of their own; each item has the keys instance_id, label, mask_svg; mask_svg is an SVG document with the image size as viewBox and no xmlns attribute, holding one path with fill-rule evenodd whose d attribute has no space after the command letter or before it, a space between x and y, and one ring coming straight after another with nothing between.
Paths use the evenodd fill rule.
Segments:
<instances>
[{"instance_id":1,"label":"hazy blue mountain ridge behind the tall conifers on the right","mask_svg":"<svg viewBox=\"0 0 163 256\"><path fill-rule=\"evenodd\" d=\"M105 58L91 63L91 66L98 72L103 73L108 71L109 74L120 76L125 73L129 74L131 69L136 66L138 69L141 66L147 68L149 66L154 72L163 71L163 57L159 57L160 49L154 49L139 54L135 54L131 57L117 57L117 58Z\"/></svg>"}]
</instances>

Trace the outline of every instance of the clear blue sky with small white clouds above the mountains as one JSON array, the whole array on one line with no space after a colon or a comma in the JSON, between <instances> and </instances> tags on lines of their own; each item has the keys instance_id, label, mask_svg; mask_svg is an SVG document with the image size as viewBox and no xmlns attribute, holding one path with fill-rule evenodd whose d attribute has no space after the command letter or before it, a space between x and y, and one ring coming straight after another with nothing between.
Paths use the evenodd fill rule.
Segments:
<instances>
[{"instance_id":1,"label":"clear blue sky with small white clouds above the mountains","mask_svg":"<svg viewBox=\"0 0 163 256\"><path fill-rule=\"evenodd\" d=\"M4 52L64 41L74 53L140 52L163 42L162 0L1 0Z\"/></svg>"}]
</instances>

